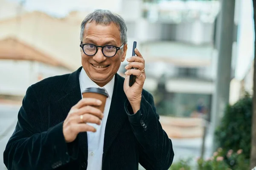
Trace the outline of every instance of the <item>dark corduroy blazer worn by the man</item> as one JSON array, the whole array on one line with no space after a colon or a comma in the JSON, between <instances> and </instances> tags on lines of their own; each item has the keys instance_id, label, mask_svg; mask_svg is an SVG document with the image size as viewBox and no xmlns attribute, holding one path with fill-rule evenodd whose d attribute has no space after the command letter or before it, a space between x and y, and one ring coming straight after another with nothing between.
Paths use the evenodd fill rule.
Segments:
<instances>
[{"instance_id":1,"label":"dark corduroy blazer worn by the man","mask_svg":"<svg viewBox=\"0 0 256 170\"><path fill-rule=\"evenodd\" d=\"M81 99L79 73L49 77L31 85L3 159L9 170L85 170L87 133L66 143L63 121ZM172 142L162 129L153 96L143 90L140 111L133 114L116 74L107 119L102 170L167 170L173 161Z\"/></svg>"}]
</instances>

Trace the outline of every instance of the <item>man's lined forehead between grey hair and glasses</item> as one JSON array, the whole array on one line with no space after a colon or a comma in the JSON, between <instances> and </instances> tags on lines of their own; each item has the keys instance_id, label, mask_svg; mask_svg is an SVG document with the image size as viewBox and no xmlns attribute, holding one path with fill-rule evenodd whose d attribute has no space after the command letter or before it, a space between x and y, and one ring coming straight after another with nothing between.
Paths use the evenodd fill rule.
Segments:
<instances>
[{"instance_id":1,"label":"man's lined forehead between grey hair and glasses","mask_svg":"<svg viewBox=\"0 0 256 170\"><path fill-rule=\"evenodd\" d=\"M105 42L114 42L117 45L121 42L120 31L114 23L102 25L92 21L85 24L83 40L94 41L98 45Z\"/></svg>"}]
</instances>

